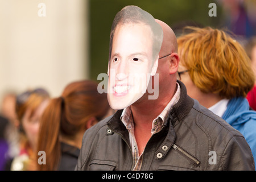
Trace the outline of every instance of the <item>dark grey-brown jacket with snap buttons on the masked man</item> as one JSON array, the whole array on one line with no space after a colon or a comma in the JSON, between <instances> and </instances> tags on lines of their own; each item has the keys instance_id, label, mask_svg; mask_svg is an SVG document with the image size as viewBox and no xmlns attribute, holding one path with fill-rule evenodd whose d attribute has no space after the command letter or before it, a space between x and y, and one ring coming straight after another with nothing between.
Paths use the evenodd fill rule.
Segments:
<instances>
[{"instance_id":1,"label":"dark grey-brown jacket with snap buttons on the masked man","mask_svg":"<svg viewBox=\"0 0 256 182\"><path fill-rule=\"evenodd\" d=\"M163 129L152 135L143 152L142 170L254 170L253 155L243 135L187 96L180 100ZM122 110L87 130L77 170L131 170L129 133Z\"/></svg>"}]
</instances>

